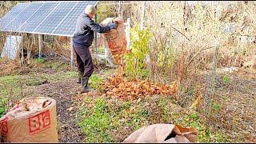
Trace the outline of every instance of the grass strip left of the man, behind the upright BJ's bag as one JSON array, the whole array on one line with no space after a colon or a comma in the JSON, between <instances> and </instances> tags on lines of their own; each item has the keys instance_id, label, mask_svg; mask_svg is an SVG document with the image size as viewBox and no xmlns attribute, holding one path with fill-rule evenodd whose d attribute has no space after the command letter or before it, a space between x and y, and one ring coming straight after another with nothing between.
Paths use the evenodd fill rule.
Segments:
<instances>
[{"instance_id":1,"label":"grass strip left of the man, behind the upright BJ's bag","mask_svg":"<svg viewBox=\"0 0 256 144\"><path fill-rule=\"evenodd\" d=\"M75 78L77 75L76 71L67 71L54 74L32 72L28 75L0 77L0 118L7 112L8 98L12 101L12 104L9 106L10 108L14 106L15 102L29 95L29 93L25 94L22 92L25 86L38 86L43 84L43 82L58 82L66 78Z\"/></svg>"}]
</instances>

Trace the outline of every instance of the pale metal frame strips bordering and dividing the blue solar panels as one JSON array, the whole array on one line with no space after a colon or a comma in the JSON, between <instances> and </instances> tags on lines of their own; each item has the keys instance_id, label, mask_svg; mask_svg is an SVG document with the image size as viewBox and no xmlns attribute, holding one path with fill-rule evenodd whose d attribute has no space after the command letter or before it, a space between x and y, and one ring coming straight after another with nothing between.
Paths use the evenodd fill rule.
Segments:
<instances>
[{"instance_id":1,"label":"pale metal frame strips bordering and dividing the blue solar panels","mask_svg":"<svg viewBox=\"0 0 256 144\"><path fill-rule=\"evenodd\" d=\"M66 18L66 16L67 16L68 14L70 14L70 12L71 12L72 10L74 10L75 6L78 5L78 2L81 2L81 1L64 1L64 2L76 2L76 3L75 3L75 5L73 6L73 8L64 16L64 18L62 18L62 21ZM91 2L91 1L86 1L86 2ZM98 1L94 1L94 2L95 2L94 6L97 6ZM59 5L60 3L62 3L62 2L31 2L31 3L42 3L42 5L43 5L44 3L58 3L56 6L54 6L54 8L53 8L52 10L50 10L50 13L47 14L46 18L48 18L48 16L50 16L50 14L51 14L51 13L58 7L58 5ZM28 5L28 6L30 6L30 3L18 3L16 6L18 6L18 5ZM26 6L26 7L27 7L27 6ZM26 7L24 7L24 8L22 9L22 11L25 10ZM40 6L40 7L41 7L41 6ZM39 8L38 8L38 9L39 9ZM15 17L9 22L9 24L10 24L11 22L13 22L14 19L15 19L16 17L18 17L19 14L22 13L22 11L21 11L20 13L18 13L17 16L15 16ZM26 21L27 21L28 19L30 19L36 12L37 12L37 10L35 10L34 13L32 13L31 16L26 19ZM7 13L7 14L8 14L8 13ZM5 16L4 16L4 17L5 17ZM3 17L3 18L4 18L4 17ZM42 20L42 22L44 22L44 20L46 20L46 18L44 18L44 19ZM2 18L1 18L1 19L2 19ZM26 22L26 21L25 21L25 22ZM58 26L60 26L60 24L62 23L62 21L58 23ZM22 25L23 25L25 22L23 22ZM40 23L38 24L38 26L40 26L42 22L40 22ZM8 24L8 25L9 25L9 24ZM8 25L6 25L6 26L8 26ZM3 28L2 31L18 32L18 33L28 33L28 34L46 34L46 35L56 35L56 36L65 36L65 37L73 37L73 36L74 36L74 33L73 33L73 34L54 34L54 30L56 30L56 29L58 28L58 26L56 26L56 28L55 28L54 30L52 30L51 33L41 33L41 32L36 32L36 31L35 31L35 30L38 28L38 26L36 26L36 27L34 28L34 31L33 31L33 32L26 31L26 30L21 31L20 28L22 27L22 25L21 25L20 27L18 27L18 30L4 30L4 28ZM6 27L6 26L5 26L5 27Z\"/></svg>"}]
</instances>

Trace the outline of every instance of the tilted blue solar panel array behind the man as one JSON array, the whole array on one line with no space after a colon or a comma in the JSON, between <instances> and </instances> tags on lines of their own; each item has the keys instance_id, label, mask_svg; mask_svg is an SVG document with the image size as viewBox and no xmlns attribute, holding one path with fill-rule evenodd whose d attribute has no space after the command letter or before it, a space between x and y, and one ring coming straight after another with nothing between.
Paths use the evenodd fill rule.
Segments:
<instances>
[{"instance_id":1,"label":"tilted blue solar panel array behind the man","mask_svg":"<svg viewBox=\"0 0 256 144\"><path fill-rule=\"evenodd\" d=\"M87 5L97 1L18 3L0 20L2 31L73 37L75 24Z\"/></svg>"}]
</instances>

